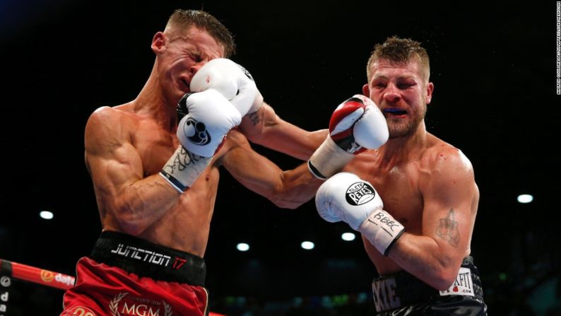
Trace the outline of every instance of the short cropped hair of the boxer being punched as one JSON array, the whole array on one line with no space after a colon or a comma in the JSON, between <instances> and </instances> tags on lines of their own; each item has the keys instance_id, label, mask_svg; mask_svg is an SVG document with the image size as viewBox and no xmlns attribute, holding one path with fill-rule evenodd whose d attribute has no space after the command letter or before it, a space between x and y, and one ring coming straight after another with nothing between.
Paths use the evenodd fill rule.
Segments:
<instances>
[{"instance_id":1,"label":"short cropped hair of the boxer being punched","mask_svg":"<svg viewBox=\"0 0 561 316\"><path fill-rule=\"evenodd\" d=\"M196 26L210 34L218 44L224 49L224 57L229 58L236 52L234 36L210 13L200 10L175 10L167 20L166 30L174 28L184 28L187 30L191 26Z\"/></svg>"}]
</instances>

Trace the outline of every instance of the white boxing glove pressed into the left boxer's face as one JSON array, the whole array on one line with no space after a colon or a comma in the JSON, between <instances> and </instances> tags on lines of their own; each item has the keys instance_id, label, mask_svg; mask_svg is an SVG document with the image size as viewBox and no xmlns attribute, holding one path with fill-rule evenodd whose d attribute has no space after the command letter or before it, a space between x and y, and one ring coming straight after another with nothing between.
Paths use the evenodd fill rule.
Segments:
<instances>
[{"instance_id":1,"label":"white boxing glove pressed into the left boxer's face","mask_svg":"<svg viewBox=\"0 0 561 316\"><path fill-rule=\"evenodd\" d=\"M230 59L212 59L191 78L191 92L200 92L208 88L222 93L242 116L256 112L263 104L263 97L257 90L252 75Z\"/></svg>"}]
</instances>

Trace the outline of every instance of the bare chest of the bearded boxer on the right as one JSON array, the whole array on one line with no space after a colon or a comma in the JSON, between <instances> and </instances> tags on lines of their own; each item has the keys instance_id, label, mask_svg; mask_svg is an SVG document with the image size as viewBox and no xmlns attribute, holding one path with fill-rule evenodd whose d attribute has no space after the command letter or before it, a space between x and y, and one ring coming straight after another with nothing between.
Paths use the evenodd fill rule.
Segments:
<instances>
[{"instance_id":1,"label":"bare chest of the bearded boxer on the right","mask_svg":"<svg viewBox=\"0 0 561 316\"><path fill-rule=\"evenodd\" d=\"M384 210L409 231L418 231L423 220L419 182L423 174L415 163L384 165L376 159L355 159L345 171L370 182L384 202Z\"/></svg>"}]
</instances>

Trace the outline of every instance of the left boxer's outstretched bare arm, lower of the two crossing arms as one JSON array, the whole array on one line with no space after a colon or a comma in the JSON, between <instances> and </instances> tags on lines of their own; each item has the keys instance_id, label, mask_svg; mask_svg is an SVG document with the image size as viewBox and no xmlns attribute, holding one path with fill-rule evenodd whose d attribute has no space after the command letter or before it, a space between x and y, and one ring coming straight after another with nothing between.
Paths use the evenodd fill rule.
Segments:
<instances>
[{"instance_id":1,"label":"left boxer's outstretched bare arm, lower of the two crossing arms","mask_svg":"<svg viewBox=\"0 0 561 316\"><path fill-rule=\"evenodd\" d=\"M248 189L261 194L279 207L295 209L314 197L322 181L314 177L304 163L283 171L249 146L238 131L230 131L227 151L220 163Z\"/></svg>"}]
</instances>

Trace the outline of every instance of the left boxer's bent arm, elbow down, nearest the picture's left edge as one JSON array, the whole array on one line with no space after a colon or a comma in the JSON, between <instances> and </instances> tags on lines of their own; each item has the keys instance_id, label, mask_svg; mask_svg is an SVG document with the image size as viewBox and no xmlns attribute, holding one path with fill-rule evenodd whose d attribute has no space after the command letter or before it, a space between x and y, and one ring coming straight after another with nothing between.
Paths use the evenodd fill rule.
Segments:
<instances>
[{"instance_id":1,"label":"left boxer's bent arm, elbow down, nearest the picture's left edge","mask_svg":"<svg viewBox=\"0 0 561 316\"><path fill-rule=\"evenodd\" d=\"M159 175L143 178L141 157L127 130L131 123L122 116L110 107L91 115L85 127L85 162L103 228L138 235L177 203L179 193Z\"/></svg>"}]
</instances>

